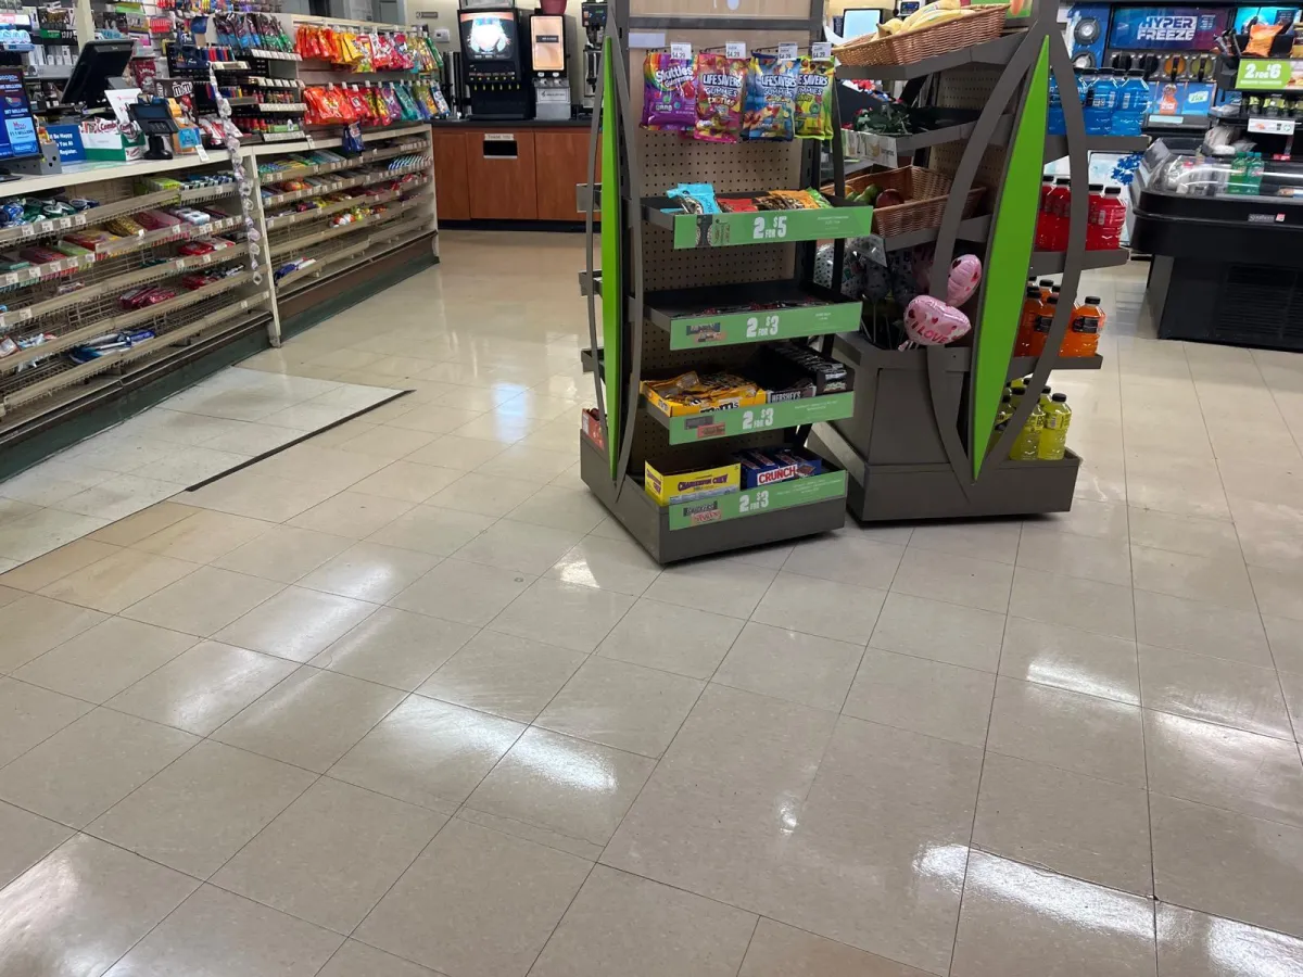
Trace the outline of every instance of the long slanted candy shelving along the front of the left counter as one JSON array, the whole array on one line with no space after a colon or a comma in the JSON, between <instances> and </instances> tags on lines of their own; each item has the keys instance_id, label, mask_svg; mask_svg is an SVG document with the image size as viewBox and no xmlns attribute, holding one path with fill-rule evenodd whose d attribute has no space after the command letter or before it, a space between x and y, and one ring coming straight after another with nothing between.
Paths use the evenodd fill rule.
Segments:
<instances>
[{"instance_id":1,"label":"long slanted candy shelving along the front of the left counter","mask_svg":"<svg viewBox=\"0 0 1303 977\"><path fill-rule=\"evenodd\" d=\"M309 194L262 199L258 162L311 149L337 150L340 141L317 138L311 143L298 141L241 150L245 171L253 181L250 218L263 240L257 259L250 254L235 182L138 191L138 181L149 175L229 173L231 160L225 152L211 152L207 164L194 156L159 163L82 164L65 168L57 177L31 177L4 185L0 195L30 195L65 188L70 195L102 202L70 218L0 229L0 251L5 253L48 244L70 231L95 228L112 218L155 207L202 205L229 216L214 218L203 225L182 224L126 237L89 255L0 275L7 306L0 313L0 339L47 335L40 345L0 357L0 449L48 430L72 414L106 405L169 370L202 363L210 353L236 340L262 333L265 343L279 345L283 320L288 319L292 327L310 324L387 281L437 261L429 126L373 130L364 138L366 150L360 156L328 167L284 169L266 177L279 181L339 172L345 186L374 188L365 201L302 212L294 211L294 205ZM404 155L420 156L421 162L387 169L390 160ZM409 178L401 188L386 186L412 173L418 178ZM319 193L336 189L339 186L332 182ZM387 210L366 220L331 227L334 218L362 202L384 203ZM235 244L202 255L176 253L177 244L206 234L222 234ZM276 266L296 257L314 262L276 280ZM236 274L194 290L177 284L182 275L197 271ZM70 284L78 288L69 290ZM176 296L138 310L119 305L119 296L150 284L175 287ZM98 336L142 328L152 330L155 337L86 362L76 362L68 356Z\"/></svg>"}]
</instances>

